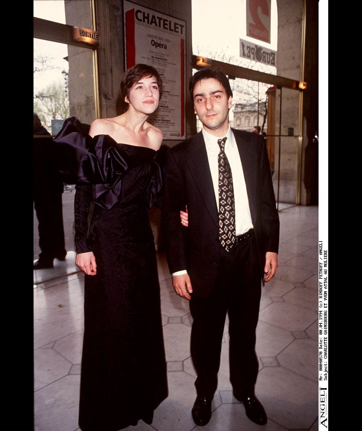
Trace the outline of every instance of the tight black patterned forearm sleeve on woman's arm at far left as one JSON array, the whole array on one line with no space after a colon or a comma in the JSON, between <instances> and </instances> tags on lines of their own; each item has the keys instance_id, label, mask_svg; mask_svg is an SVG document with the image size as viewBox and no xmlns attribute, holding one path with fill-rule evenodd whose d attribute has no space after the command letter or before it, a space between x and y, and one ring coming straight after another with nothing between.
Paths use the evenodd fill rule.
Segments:
<instances>
[{"instance_id":1,"label":"tight black patterned forearm sleeve on woman's arm at far left","mask_svg":"<svg viewBox=\"0 0 362 431\"><path fill-rule=\"evenodd\" d=\"M92 186L77 184L74 197L74 240L77 253L91 251L87 245L88 215L91 198Z\"/></svg>"}]
</instances>

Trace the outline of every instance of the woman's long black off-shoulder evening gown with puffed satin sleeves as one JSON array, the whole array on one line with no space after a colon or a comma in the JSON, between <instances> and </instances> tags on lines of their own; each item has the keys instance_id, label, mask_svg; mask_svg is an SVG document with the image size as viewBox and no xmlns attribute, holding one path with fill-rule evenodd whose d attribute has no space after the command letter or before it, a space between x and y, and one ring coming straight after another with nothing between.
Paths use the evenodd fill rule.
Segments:
<instances>
[{"instance_id":1,"label":"woman's long black off-shoulder evening gown with puffed satin sleeves","mask_svg":"<svg viewBox=\"0 0 362 431\"><path fill-rule=\"evenodd\" d=\"M59 170L68 181L75 176L80 181L77 253L92 251L97 264L97 275L85 275L79 426L116 431L139 419L151 423L153 410L168 395L147 211L162 186L164 148L117 144L108 135L91 138L75 117L54 141Z\"/></svg>"}]
</instances>

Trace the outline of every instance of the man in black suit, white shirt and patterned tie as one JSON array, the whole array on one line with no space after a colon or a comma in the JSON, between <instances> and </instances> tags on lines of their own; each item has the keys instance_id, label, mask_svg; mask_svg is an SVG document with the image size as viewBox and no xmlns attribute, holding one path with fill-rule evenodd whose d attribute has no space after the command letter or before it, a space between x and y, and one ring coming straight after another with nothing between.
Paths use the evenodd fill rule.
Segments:
<instances>
[{"instance_id":1,"label":"man in black suit, white shirt and patterned tie","mask_svg":"<svg viewBox=\"0 0 362 431\"><path fill-rule=\"evenodd\" d=\"M230 381L253 422L267 422L254 393L255 331L261 281L278 266L279 218L262 136L229 126L232 91L222 69L190 79L203 130L169 150L162 226L176 292L190 300L191 355L197 372L192 409L211 418L225 317L229 315ZM187 206L188 226L180 225Z\"/></svg>"}]
</instances>

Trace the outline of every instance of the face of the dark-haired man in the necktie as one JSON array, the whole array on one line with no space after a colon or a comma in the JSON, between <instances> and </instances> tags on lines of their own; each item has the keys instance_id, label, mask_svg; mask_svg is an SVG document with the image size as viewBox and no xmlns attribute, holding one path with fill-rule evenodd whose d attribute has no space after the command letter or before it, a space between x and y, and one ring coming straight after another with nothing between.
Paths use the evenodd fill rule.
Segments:
<instances>
[{"instance_id":1,"label":"face of the dark-haired man in the necktie","mask_svg":"<svg viewBox=\"0 0 362 431\"><path fill-rule=\"evenodd\" d=\"M226 133L232 97L215 78L198 81L193 88L193 107L204 128L211 134Z\"/></svg>"}]
</instances>

